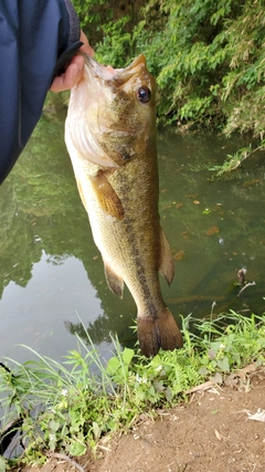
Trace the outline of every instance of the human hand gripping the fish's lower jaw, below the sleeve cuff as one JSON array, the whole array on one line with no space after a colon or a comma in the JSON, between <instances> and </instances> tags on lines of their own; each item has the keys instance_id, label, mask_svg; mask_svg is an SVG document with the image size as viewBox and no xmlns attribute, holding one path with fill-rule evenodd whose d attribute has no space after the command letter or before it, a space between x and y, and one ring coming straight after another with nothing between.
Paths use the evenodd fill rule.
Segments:
<instances>
[{"instance_id":1,"label":"human hand gripping the fish's lower jaw, below the sleeve cuff","mask_svg":"<svg viewBox=\"0 0 265 472\"><path fill-rule=\"evenodd\" d=\"M85 52L93 57L94 51L83 31L81 31L80 40L84 43L80 51ZM65 72L63 72L61 75L57 75L53 80L51 91L63 92L74 87L83 77L84 62L85 59L83 55L75 55L67 65Z\"/></svg>"}]
</instances>

